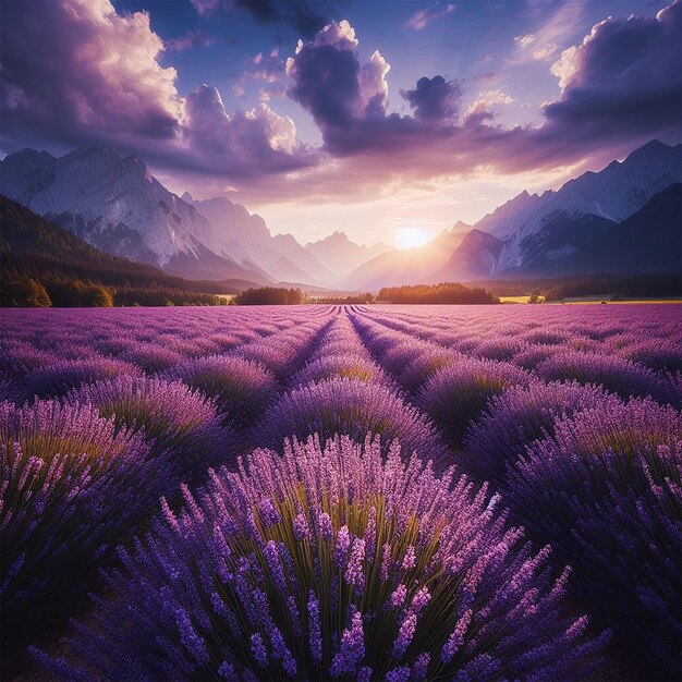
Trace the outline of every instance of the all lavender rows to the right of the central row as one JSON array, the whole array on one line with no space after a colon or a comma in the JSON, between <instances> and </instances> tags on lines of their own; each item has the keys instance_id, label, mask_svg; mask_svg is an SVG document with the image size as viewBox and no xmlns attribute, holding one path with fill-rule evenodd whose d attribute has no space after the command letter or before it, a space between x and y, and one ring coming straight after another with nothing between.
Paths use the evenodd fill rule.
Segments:
<instances>
[{"instance_id":1,"label":"all lavender rows to the right of the central row","mask_svg":"<svg viewBox=\"0 0 682 682\"><path fill-rule=\"evenodd\" d=\"M680 309L409 310L353 319L460 468L571 564L576 596L642 662L633 674L677 678Z\"/></svg>"}]
</instances>

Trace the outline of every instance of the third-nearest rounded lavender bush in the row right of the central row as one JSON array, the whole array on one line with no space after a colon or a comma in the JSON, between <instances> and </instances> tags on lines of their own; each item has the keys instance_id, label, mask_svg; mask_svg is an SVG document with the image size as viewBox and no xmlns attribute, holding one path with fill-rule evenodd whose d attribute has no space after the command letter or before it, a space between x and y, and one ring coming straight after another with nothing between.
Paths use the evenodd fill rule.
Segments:
<instances>
[{"instance_id":1,"label":"third-nearest rounded lavender bush in the row right of the central row","mask_svg":"<svg viewBox=\"0 0 682 682\"><path fill-rule=\"evenodd\" d=\"M422 387L416 402L451 442L460 444L468 423L492 395L529 380L528 374L513 365L462 356L437 372Z\"/></svg>"}]
</instances>

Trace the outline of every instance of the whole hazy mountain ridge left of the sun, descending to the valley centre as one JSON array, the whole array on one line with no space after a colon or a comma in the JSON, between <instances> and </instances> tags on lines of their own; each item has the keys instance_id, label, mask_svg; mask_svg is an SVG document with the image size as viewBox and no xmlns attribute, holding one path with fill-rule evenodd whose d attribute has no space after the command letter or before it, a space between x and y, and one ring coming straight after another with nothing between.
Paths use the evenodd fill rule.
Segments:
<instances>
[{"instance_id":1,"label":"whole hazy mountain ridge left of the sun, descending to the valley centre","mask_svg":"<svg viewBox=\"0 0 682 682\"><path fill-rule=\"evenodd\" d=\"M60 158L12 154L0 161L0 193L92 246L172 275L317 287L337 279L291 234L270 234L260 216L226 197L179 197L139 158L108 146Z\"/></svg>"}]
</instances>

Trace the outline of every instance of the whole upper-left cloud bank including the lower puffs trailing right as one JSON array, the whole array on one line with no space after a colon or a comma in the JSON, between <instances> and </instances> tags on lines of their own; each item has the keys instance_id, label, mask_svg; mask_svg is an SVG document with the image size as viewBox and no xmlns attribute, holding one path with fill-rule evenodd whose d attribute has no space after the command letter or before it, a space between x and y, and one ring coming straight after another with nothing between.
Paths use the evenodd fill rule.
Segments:
<instances>
[{"instance_id":1,"label":"whole upper-left cloud bank including the lower puffs trailing right","mask_svg":"<svg viewBox=\"0 0 682 682\"><path fill-rule=\"evenodd\" d=\"M165 46L147 13L119 15L108 0L16 2L3 10L5 149L106 142L166 168L254 182L316 162L292 119L266 103L229 114L207 85L181 97L175 70L157 61Z\"/></svg>"}]
</instances>

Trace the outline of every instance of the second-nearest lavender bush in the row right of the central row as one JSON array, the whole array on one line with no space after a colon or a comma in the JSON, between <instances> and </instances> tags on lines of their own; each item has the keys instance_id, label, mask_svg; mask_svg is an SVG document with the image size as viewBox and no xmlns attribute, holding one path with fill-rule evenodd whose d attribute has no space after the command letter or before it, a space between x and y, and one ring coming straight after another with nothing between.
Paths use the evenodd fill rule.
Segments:
<instances>
[{"instance_id":1,"label":"second-nearest lavender bush in the row right of the central row","mask_svg":"<svg viewBox=\"0 0 682 682\"><path fill-rule=\"evenodd\" d=\"M534 381L512 386L494 395L487 410L470 425L462 458L467 468L488 480L503 484L508 463L525 455L535 440L553 435L555 419L618 398L577 381Z\"/></svg>"}]
</instances>

